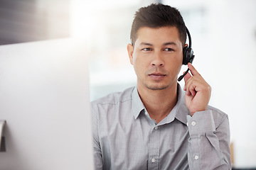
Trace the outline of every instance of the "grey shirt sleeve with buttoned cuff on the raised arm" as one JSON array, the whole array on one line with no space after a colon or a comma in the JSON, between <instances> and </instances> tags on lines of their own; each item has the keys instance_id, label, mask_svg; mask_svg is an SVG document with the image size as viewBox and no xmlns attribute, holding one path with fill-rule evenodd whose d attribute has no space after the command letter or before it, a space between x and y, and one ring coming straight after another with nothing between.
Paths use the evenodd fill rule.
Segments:
<instances>
[{"instance_id":1,"label":"grey shirt sleeve with buttoned cuff on the raised arm","mask_svg":"<svg viewBox=\"0 0 256 170\"><path fill-rule=\"evenodd\" d=\"M201 111L188 120L188 165L193 169L231 169L228 115Z\"/></svg>"}]
</instances>

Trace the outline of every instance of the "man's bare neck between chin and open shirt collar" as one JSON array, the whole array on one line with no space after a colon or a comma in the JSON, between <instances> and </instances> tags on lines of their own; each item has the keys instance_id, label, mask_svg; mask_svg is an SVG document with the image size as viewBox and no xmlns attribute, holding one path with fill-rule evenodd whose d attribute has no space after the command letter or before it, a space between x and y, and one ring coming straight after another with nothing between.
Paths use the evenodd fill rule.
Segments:
<instances>
[{"instance_id":1,"label":"man's bare neck between chin and open shirt collar","mask_svg":"<svg viewBox=\"0 0 256 170\"><path fill-rule=\"evenodd\" d=\"M159 123L177 103L177 84L162 90L151 90L145 86L138 86L139 96L150 117Z\"/></svg>"}]
</instances>

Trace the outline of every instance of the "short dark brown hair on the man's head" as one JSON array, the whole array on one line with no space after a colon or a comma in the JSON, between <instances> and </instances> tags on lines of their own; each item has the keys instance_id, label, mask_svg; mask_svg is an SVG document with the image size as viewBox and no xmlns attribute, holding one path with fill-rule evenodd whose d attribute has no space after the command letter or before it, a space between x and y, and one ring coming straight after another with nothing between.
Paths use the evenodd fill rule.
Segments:
<instances>
[{"instance_id":1,"label":"short dark brown hair on the man's head","mask_svg":"<svg viewBox=\"0 0 256 170\"><path fill-rule=\"evenodd\" d=\"M174 26L178 29L179 38L184 46L186 43L186 26L178 9L164 4L151 4L139 8L134 15L130 34L132 45L137 40L137 31L142 27L160 28Z\"/></svg>"}]
</instances>

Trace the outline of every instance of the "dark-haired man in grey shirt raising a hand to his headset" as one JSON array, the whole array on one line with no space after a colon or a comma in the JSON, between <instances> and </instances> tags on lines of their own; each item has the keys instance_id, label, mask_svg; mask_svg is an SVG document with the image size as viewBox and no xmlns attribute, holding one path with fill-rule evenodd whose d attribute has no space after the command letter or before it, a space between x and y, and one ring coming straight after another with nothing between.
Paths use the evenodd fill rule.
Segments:
<instances>
[{"instance_id":1,"label":"dark-haired man in grey shirt raising a hand to his headset","mask_svg":"<svg viewBox=\"0 0 256 170\"><path fill-rule=\"evenodd\" d=\"M127 46L137 86L92 102L95 169L231 169L228 116L188 64L177 84L186 26L171 6L135 14Z\"/></svg>"}]
</instances>

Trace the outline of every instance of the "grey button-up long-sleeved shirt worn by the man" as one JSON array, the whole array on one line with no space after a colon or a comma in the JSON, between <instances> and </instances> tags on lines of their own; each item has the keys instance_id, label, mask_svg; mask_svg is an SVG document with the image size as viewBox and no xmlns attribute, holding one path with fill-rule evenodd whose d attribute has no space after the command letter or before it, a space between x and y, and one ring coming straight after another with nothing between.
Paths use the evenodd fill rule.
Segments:
<instances>
[{"instance_id":1,"label":"grey button-up long-sleeved shirt worn by the man","mask_svg":"<svg viewBox=\"0 0 256 170\"><path fill-rule=\"evenodd\" d=\"M178 102L160 123L136 87L92 101L95 169L231 169L228 115L208 106L191 117Z\"/></svg>"}]
</instances>

